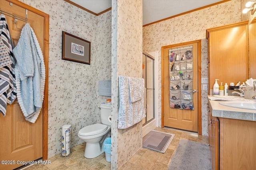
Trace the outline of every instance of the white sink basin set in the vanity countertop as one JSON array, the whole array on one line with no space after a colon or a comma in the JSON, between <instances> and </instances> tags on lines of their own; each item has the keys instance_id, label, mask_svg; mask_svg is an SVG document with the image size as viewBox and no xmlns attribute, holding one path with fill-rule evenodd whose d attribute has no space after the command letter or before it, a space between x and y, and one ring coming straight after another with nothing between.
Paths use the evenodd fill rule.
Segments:
<instances>
[{"instance_id":1,"label":"white sink basin set in the vanity countertop","mask_svg":"<svg viewBox=\"0 0 256 170\"><path fill-rule=\"evenodd\" d=\"M227 102L220 102L220 104L224 106L229 106L229 107L256 110L256 102L254 101L249 101L249 102L227 101Z\"/></svg>"}]
</instances>

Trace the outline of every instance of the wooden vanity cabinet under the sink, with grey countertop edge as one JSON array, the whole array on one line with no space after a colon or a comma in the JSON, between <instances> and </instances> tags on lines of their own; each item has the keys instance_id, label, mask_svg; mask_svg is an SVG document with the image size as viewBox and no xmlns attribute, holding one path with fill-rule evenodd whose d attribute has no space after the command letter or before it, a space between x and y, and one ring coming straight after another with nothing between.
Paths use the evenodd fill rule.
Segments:
<instances>
[{"instance_id":1,"label":"wooden vanity cabinet under the sink, with grey countertop edge","mask_svg":"<svg viewBox=\"0 0 256 170\"><path fill-rule=\"evenodd\" d=\"M210 102L208 108L212 170L256 170L256 121L226 118L234 117L234 111L228 109L217 109L218 114L225 118L214 117ZM243 114L239 111L237 113ZM244 119L251 114L254 113L245 113L247 117Z\"/></svg>"}]
</instances>

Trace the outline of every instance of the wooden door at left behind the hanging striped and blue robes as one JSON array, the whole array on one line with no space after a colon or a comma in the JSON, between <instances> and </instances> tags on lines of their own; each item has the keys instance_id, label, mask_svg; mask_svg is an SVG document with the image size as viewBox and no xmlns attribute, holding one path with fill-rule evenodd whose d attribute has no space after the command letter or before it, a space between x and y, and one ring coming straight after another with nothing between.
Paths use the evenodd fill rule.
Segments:
<instances>
[{"instance_id":1,"label":"wooden door at left behind the hanging striped and blue robes","mask_svg":"<svg viewBox=\"0 0 256 170\"><path fill-rule=\"evenodd\" d=\"M11 6L12 5L12 6ZM26 9L6 0L0 0L0 10L26 18ZM3 13L5 14L5 13ZM14 45L18 43L25 21L6 16L7 24ZM44 53L44 17L28 11L28 23L34 29L40 47ZM12 161L12 164L0 164L1 170L11 170L22 166L17 161L32 161L42 158L43 142L43 109L36 120L30 123L25 120L17 99L7 106L6 116L0 115L0 160Z\"/></svg>"}]
</instances>

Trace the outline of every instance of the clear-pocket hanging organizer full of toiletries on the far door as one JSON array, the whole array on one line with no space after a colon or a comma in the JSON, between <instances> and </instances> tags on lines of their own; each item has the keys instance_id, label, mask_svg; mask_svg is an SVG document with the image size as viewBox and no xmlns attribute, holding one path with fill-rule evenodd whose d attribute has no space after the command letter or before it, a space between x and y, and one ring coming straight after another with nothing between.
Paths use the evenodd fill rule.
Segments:
<instances>
[{"instance_id":1,"label":"clear-pocket hanging organizer full of toiletries on the far door","mask_svg":"<svg viewBox=\"0 0 256 170\"><path fill-rule=\"evenodd\" d=\"M193 46L169 50L170 108L194 110Z\"/></svg>"}]
</instances>

